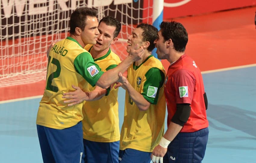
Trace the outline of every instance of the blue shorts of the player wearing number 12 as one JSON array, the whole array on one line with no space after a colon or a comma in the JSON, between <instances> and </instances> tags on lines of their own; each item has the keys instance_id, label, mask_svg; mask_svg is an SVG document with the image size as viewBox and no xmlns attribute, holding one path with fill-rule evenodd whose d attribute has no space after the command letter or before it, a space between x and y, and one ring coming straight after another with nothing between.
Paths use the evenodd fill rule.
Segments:
<instances>
[{"instance_id":1,"label":"blue shorts of the player wearing number 12","mask_svg":"<svg viewBox=\"0 0 256 163\"><path fill-rule=\"evenodd\" d=\"M62 130L36 125L43 162L83 163L83 130L79 122Z\"/></svg>"}]
</instances>

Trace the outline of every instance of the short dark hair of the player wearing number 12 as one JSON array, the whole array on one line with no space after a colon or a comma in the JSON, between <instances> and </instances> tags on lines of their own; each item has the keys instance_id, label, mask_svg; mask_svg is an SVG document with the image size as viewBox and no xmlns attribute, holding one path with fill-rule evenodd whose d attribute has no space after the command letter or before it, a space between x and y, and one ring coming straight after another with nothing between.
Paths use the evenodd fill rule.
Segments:
<instances>
[{"instance_id":1,"label":"short dark hair of the player wearing number 12","mask_svg":"<svg viewBox=\"0 0 256 163\"><path fill-rule=\"evenodd\" d=\"M97 17L97 14L98 14L97 10L94 10L92 8L88 8L88 7L76 8L76 10L74 10L70 16L70 22L69 22L70 33L74 33L76 27L81 28L83 31L84 27L86 26L85 20L87 19L87 16Z\"/></svg>"}]
</instances>

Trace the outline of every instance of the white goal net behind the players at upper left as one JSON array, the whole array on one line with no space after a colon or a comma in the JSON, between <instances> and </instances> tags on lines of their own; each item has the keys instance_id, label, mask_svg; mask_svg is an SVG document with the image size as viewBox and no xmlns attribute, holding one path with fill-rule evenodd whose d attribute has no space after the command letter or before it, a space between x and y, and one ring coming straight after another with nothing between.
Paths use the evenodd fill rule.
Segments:
<instances>
[{"instance_id":1,"label":"white goal net behind the players at upper left","mask_svg":"<svg viewBox=\"0 0 256 163\"><path fill-rule=\"evenodd\" d=\"M111 49L126 57L126 38L134 27L152 23L152 2L142 0L1 0L0 87L45 80L46 51L69 35L70 14L76 7L98 10L122 23L120 42Z\"/></svg>"}]
</instances>

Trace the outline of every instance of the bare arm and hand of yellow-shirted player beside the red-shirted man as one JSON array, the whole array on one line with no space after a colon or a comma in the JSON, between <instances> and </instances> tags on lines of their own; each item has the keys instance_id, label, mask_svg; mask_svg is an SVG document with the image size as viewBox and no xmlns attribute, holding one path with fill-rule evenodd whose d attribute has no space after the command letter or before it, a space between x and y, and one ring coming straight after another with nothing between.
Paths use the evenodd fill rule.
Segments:
<instances>
[{"instance_id":1,"label":"bare arm and hand of yellow-shirted player beside the red-shirted man","mask_svg":"<svg viewBox=\"0 0 256 163\"><path fill-rule=\"evenodd\" d=\"M142 94L140 94L133 88L133 86L129 83L127 78L123 76L121 72L118 73L118 76L118 82L123 84L122 87L126 89L131 99L138 106L138 108L141 111L147 110L150 106L150 103L142 96Z\"/></svg>"}]
</instances>

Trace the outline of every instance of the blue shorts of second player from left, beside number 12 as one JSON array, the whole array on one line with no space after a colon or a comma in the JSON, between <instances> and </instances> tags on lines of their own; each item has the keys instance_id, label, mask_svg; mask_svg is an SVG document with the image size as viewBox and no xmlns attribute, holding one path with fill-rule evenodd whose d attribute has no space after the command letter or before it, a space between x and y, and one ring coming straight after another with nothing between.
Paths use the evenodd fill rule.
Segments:
<instances>
[{"instance_id":1,"label":"blue shorts of second player from left, beside number 12","mask_svg":"<svg viewBox=\"0 0 256 163\"><path fill-rule=\"evenodd\" d=\"M83 139L85 163L118 163L120 141L102 143Z\"/></svg>"}]
</instances>

